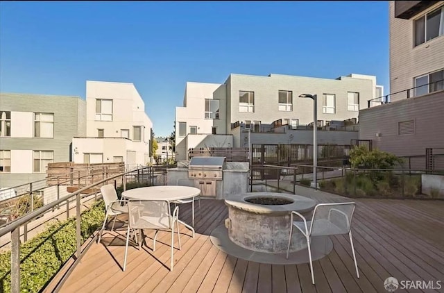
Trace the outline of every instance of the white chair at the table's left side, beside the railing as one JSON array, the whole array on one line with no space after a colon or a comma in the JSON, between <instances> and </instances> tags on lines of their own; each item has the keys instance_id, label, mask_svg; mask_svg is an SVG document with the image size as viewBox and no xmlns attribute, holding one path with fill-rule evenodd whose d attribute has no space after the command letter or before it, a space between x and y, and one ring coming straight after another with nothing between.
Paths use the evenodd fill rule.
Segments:
<instances>
[{"instance_id":1,"label":"white chair at the table's left side, beside the railing","mask_svg":"<svg viewBox=\"0 0 444 293\"><path fill-rule=\"evenodd\" d=\"M100 187L100 191L102 193L103 201L105 201L106 215L105 219L103 220L103 225L97 243L100 243L103 230L105 230L106 221L108 220L108 216L114 216L114 221L112 221L111 227L112 231L112 229L114 229L114 224L116 223L117 216L121 214L128 214L127 201L119 200L114 185L103 185L102 187Z\"/></svg>"}]
</instances>

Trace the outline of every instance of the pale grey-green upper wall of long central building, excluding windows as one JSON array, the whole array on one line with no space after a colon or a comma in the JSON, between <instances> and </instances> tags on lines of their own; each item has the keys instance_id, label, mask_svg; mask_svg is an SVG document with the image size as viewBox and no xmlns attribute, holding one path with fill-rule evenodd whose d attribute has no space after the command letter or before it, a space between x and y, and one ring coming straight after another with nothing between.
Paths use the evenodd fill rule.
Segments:
<instances>
[{"instance_id":1,"label":"pale grey-green upper wall of long central building, excluding windows","mask_svg":"<svg viewBox=\"0 0 444 293\"><path fill-rule=\"evenodd\" d=\"M298 118L300 124L309 124L313 122L313 101L298 98L300 94L317 94L318 120L357 118L358 111L348 110L347 92L359 92L359 108L366 108L366 101L373 99L375 93L372 79L347 76L341 76L340 79L327 79L280 74L271 74L270 76L230 74L230 83L228 99L231 102L231 115L227 119L228 124L237 121L245 122L246 120L271 124L281 118ZM278 110L279 90L293 92L293 110ZM255 93L254 112L239 112L239 91ZM334 114L323 113L323 94L336 95L336 112Z\"/></svg>"}]
</instances>

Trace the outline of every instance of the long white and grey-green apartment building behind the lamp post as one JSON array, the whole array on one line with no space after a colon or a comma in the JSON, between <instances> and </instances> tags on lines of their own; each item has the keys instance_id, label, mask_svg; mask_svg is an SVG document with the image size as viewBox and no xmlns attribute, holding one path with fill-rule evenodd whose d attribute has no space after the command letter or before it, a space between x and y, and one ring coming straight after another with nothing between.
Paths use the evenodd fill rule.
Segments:
<instances>
[{"instance_id":1,"label":"long white and grey-green apartment building behind the lamp post","mask_svg":"<svg viewBox=\"0 0 444 293\"><path fill-rule=\"evenodd\" d=\"M357 119L366 101L383 92L375 76L362 74L336 79L230 74L223 84L187 82L183 106L176 107L176 158L185 160L190 148L244 147L234 124L262 133L279 119L291 128L313 123L313 101L300 94L317 95L317 124L323 126Z\"/></svg>"}]
</instances>

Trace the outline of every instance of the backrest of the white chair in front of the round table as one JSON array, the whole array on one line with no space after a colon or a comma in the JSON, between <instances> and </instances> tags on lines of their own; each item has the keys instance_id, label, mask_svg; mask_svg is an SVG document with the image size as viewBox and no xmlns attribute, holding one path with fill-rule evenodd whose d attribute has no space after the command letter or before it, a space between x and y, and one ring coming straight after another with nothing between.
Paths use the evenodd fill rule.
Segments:
<instances>
[{"instance_id":1,"label":"backrest of the white chair in front of the round table","mask_svg":"<svg viewBox=\"0 0 444 293\"><path fill-rule=\"evenodd\" d=\"M130 228L171 228L172 226L169 201L130 199L128 212Z\"/></svg>"}]
</instances>

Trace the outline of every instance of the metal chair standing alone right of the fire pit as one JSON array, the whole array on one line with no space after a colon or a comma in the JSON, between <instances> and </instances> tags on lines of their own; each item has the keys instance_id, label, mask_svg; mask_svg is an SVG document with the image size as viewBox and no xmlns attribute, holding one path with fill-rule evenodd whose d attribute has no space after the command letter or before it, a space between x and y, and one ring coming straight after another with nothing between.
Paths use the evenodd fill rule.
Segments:
<instances>
[{"instance_id":1,"label":"metal chair standing alone right of the fire pit","mask_svg":"<svg viewBox=\"0 0 444 293\"><path fill-rule=\"evenodd\" d=\"M313 211L311 221L307 221L299 212L291 212L291 228L289 246L287 249L287 259L289 258L289 250L291 244L291 235L293 226L307 238L308 255L310 260L311 283L314 285L313 262L311 260L310 240L311 236L327 236L347 234L350 237L350 245L352 246L353 260L355 260L355 269L359 278L358 265L356 262L355 248L352 240L352 217L355 212L356 203L319 203ZM297 215L302 221L293 221L293 215Z\"/></svg>"}]
</instances>

